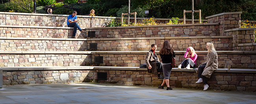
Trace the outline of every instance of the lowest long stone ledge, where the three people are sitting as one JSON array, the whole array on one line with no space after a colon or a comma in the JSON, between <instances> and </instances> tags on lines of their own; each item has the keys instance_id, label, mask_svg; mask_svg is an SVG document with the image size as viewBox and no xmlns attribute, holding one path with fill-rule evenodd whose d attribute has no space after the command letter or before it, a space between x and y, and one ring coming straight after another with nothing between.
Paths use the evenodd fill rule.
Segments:
<instances>
[{"instance_id":1,"label":"lowest long stone ledge, where the three people are sitting","mask_svg":"<svg viewBox=\"0 0 256 104\"><path fill-rule=\"evenodd\" d=\"M118 67L118 66L62 66L62 67L1 67L3 71L37 71L37 70L126 70L126 71L147 71L147 68L139 67ZM196 72L197 69L178 69L172 71ZM256 69L232 68L230 70L218 68L215 72L219 73L256 73Z\"/></svg>"}]
</instances>

